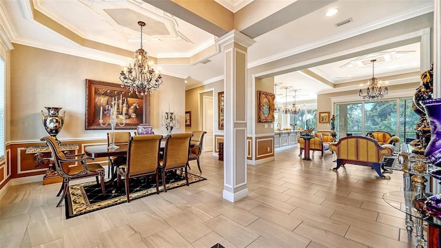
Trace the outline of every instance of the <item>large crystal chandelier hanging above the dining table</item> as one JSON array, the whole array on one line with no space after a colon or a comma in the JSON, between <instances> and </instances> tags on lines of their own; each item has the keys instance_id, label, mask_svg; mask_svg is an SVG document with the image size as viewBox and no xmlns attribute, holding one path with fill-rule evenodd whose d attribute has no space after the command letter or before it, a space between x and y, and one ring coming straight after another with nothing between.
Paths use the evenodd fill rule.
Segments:
<instances>
[{"instance_id":1,"label":"large crystal chandelier hanging above the dining table","mask_svg":"<svg viewBox=\"0 0 441 248\"><path fill-rule=\"evenodd\" d=\"M152 63L147 63L148 53L143 50L143 27L145 22L138 21L138 25L141 27L141 48L136 50L134 58L135 61L129 64L129 68L123 68L119 74L119 80L121 81L121 87L126 87L130 92L136 94L147 94L147 92L153 92L158 90L159 85L163 83L161 71L156 72Z\"/></svg>"}]
</instances>

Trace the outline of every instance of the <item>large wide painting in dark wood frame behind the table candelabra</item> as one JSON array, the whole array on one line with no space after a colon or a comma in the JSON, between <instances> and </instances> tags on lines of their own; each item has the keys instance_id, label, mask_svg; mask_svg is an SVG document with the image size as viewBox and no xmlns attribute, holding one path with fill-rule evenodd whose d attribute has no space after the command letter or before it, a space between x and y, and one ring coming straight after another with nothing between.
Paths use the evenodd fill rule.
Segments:
<instances>
[{"instance_id":1,"label":"large wide painting in dark wood frame behind the table candelabra","mask_svg":"<svg viewBox=\"0 0 441 248\"><path fill-rule=\"evenodd\" d=\"M125 118L125 125L115 125L115 129L136 129L136 127L150 121L149 114L145 110L150 109L145 103L150 99L150 94L139 96L121 87L119 83L107 83L92 79L85 80L85 130L110 130L110 108L112 102L116 105L116 112L119 120ZM103 123L109 123L104 127Z\"/></svg>"}]
</instances>

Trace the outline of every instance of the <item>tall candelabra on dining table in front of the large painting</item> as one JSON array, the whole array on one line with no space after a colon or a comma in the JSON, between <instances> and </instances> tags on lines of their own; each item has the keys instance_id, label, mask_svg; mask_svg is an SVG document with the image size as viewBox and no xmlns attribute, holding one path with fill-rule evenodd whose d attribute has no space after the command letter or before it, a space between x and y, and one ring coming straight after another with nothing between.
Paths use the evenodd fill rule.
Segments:
<instances>
[{"instance_id":1,"label":"tall candelabra on dining table in front of the large painting","mask_svg":"<svg viewBox=\"0 0 441 248\"><path fill-rule=\"evenodd\" d=\"M99 125L101 127L105 127L110 124L112 127L112 142L107 147L109 149L116 149L119 146L115 145L115 126L118 124L120 127L123 127L125 125L125 109L127 108L127 104L123 103L123 96L121 95L121 99L118 103L118 97L116 99L112 99L112 107L110 107L110 120L107 122L103 121L103 106L101 106L100 112L99 112ZM122 111L122 114L121 114ZM123 121L119 121L119 119L122 118Z\"/></svg>"}]
</instances>

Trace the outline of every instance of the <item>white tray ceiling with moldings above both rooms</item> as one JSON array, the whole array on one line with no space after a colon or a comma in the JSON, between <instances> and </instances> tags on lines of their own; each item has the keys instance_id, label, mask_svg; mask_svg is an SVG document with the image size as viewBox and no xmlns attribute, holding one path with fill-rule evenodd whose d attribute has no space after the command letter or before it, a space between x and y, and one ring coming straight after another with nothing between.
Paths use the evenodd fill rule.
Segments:
<instances>
[{"instance_id":1,"label":"white tray ceiling with moldings above both rooms","mask_svg":"<svg viewBox=\"0 0 441 248\"><path fill-rule=\"evenodd\" d=\"M292 54L342 41L357 34L433 11L433 0L215 1L236 14L250 10L255 13L252 23L248 23L243 30L239 30L244 33L256 34L256 37L252 37L256 43L248 49L249 66L283 59ZM138 21L147 23L143 29L143 48L149 52L150 56L154 56L160 61L161 59L167 61L165 59L170 58L175 61L176 59L188 59L210 46L216 46L215 41L218 39L216 35L146 2L154 4L154 1L150 0L0 1L0 31L6 34L12 43L118 65L131 63L131 52L112 53L108 52L107 46L125 52L139 49ZM165 2L168 0L162 1L162 3ZM296 4L298 6L316 4L317 7L315 9L313 7L299 7L294 9L296 12L291 14L283 14L283 11L278 12L286 6L295 6ZM275 14L265 14L265 11L262 11L265 10L265 6L267 12L271 11ZM338 8L339 12L332 17L326 17L325 12L330 8ZM34 10L38 10L54 21L38 20L41 15ZM260 10L260 12L256 10ZM350 23L336 27L335 23L349 18L352 19ZM50 27L47 22L59 23L61 26ZM246 23L246 21L243 22ZM276 25L274 24L276 22L280 25L268 28L268 26ZM72 37L66 37L65 34L61 34L63 32L57 31L63 27L83 39L96 41L98 46L74 42ZM256 30L265 30L265 28L269 31L257 34ZM309 68L309 71L329 81L331 85L367 80L372 76L372 67L369 61L373 57L378 61L384 58L394 59L375 64L375 75L380 79L383 75L420 70L420 45L416 43L376 54L366 54L357 58L318 65ZM164 62L159 66L163 74L177 76L183 81L187 80L189 82L187 88L191 88L211 83L223 77L223 56L220 50L201 58L201 60L205 59L209 59L210 62L206 64L197 63L198 61L180 64ZM353 67L353 65L362 65L363 61L365 61L365 65ZM118 81L118 76L119 72L115 72L115 81ZM291 86L300 90L297 93L298 101L315 99L318 92L327 92L333 88L303 72L281 74L275 77L275 81L283 83L282 86ZM277 93L279 95L278 101L285 102L285 92L279 89ZM294 93L288 92L288 94L291 96L288 98L289 102L292 101Z\"/></svg>"}]
</instances>

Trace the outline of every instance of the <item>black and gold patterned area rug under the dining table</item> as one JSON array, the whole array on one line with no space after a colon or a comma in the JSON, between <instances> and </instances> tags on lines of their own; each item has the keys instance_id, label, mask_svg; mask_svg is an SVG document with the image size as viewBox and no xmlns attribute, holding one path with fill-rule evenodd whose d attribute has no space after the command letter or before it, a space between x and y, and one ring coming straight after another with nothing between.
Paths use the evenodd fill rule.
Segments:
<instances>
[{"instance_id":1,"label":"black and gold patterned area rug under the dining table","mask_svg":"<svg viewBox=\"0 0 441 248\"><path fill-rule=\"evenodd\" d=\"M202 180L207 180L207 178L203 178L202 176L197 176L191 173L188 174L188 182L190 184L201 182ZM187 183L185 183L185 176L181 176L175 172L167 172L165 181L167 185L167 192L170 189L187 185ZM155 180L150 176L130 178L129 183L130 201L156 194ZM163 183L160 179L159 192L163 191ZM101 193L101 187L96 184L96 181L69 186L69 193L65 198L66 219L125 203L127 200L125 197L124 179L121 181L119 190L116 189L116 181L105 182L105 195Z\"/></svg>"}]
</instances>

